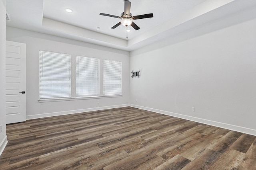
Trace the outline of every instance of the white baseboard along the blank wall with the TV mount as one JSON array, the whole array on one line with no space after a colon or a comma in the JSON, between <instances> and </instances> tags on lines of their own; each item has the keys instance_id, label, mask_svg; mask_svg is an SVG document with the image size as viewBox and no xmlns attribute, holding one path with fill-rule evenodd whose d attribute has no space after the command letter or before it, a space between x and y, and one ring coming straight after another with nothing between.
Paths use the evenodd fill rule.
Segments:
<instances>
[{"instance_id":1,"label":"white baseboard along the blank wall with the TV mount","mask_svg":"<svg viewBox=\"0 0 256 170\"><path fill-rule=\"evenodd\" d=\"M212 125L212 126L221 127L221 128L224 128L224 129L229 129L229 130L232 130L232 131L237 131L237 132L246 133L246 134L249 134L249 135L256 136L256 129L249 129L249 128L246 128L246 127L240 127L240 126L236 126L236 125L230 125L230 124L227 124L227 123L221 123L221 122L217 122L217 121L201 119L201 118L198 118L198 117L192 117L192 116L182 115L182 114L179 114L179 113L173 113L173 112L170 112L170 111L153 109L153 108L150 108L150 107L138 106L138 105L133 105L133 104L130 104L130 106L138 108L138 109L153 111L153 112L161 113L161 114L164 114L164 115L170 115L170 116L178 117L178 118L181 118L181 119L195 121L195 122L203 123L203 124L206 124L206 125Z\"/></svg>"}]
</instances>

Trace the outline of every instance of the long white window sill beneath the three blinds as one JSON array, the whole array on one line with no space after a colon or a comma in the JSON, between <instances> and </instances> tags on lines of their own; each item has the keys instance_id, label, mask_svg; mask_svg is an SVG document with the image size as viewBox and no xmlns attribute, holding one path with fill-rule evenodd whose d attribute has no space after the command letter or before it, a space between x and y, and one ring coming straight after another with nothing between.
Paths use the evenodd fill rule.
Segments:
<instances>
[{"instance_id":1,"label":"long white window sill beneath the three blinds","mask_svg":"<svg viewBox=\"0 0 256 170\"><path fill-rule=\"evenodd\" d=\"M61 102L61 101L70 101L70 100L89 100L89 99L102 99L102 98L119 98L122 95L117 96L96 96L96 97L77 97L77 98L60 98L60 99L38 99L39 103L44 102Z\"/></svg>"}]
</instances>

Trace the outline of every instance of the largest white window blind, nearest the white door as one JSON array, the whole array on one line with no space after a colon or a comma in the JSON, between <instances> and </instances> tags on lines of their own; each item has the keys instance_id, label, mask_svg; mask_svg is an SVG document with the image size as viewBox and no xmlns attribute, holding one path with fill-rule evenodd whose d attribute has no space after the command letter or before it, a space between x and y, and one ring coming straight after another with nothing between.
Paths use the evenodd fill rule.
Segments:
<instances>
[{"instance_id":1,"label":"largest white window blind, nearest the white door","mask_svg":"<svg viewBox=\"0 0 256 170\"><path fill-rule=\"evenodd\" d=\"M71 97L71 55L39 51L39 98Z\"/></svg>"}]
</instances>

